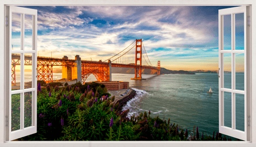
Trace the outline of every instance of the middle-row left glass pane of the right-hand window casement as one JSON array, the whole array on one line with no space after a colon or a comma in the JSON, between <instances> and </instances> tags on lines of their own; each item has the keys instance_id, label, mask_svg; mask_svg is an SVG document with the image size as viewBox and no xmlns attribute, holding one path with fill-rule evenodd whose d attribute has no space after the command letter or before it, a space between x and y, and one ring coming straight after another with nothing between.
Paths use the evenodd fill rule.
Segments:
<instances>
[{"instance_id":1,"label":"middle-row left glass pane of the right-hand window casement","mask_svg":"<svg viewBox=\"0 0 256 147\"><path fill-rule=\"evenodd\" d=\"M224 88L231 89L231 53L224 53Z\"/></svg>"}]
</instances>

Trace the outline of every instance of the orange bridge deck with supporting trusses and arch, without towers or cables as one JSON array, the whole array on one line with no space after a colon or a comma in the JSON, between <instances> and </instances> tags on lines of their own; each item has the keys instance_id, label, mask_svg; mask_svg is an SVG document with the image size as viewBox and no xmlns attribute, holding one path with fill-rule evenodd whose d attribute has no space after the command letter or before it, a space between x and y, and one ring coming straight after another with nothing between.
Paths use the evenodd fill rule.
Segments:
<instances>
[{"instance_id":1,"label":"orange bridge deck with supporting trusses and arch, without towers or cables","mask_svg":"<svg viewBox=\"0 0 256 147\"><path fill-rule=\"evenodd\" d=\"M21 59L20 54L11 55L11 78L12 83L16 84L15 76L15 66L20 65ZM32 65L32 56L24 56L24 64ZM38 80L43 80L45 82L53 81L53 70L52 66L62 66L62 78L67 78L72 80L77 78L78 81L84 83L90 74L94 74L97 81L112 81L111 78L111 67L123 67L123 68L141 68L141 69L152 69L159 71L159 69L153 66L139 66L132 64L122 64L122 63L111 63L100 61L88 61L81 60L79 55L75 57L75 60L68 59L67 56L63 58L50 58L50 57L37 57L37 67L38 67Z\"/></svg>"}]
</instances>

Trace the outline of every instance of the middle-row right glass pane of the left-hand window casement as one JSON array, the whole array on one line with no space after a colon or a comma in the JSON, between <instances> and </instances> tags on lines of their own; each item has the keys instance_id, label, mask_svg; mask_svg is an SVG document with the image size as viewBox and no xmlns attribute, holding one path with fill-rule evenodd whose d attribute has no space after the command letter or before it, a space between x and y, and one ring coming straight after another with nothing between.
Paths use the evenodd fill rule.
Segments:
<instances>
[{"instance_id":1,"label":"middle-row right glass pane of the left-hand window casement","mask_svg":"<svg viewBox=\"0 0 256 147\"><path fill-rule=\"evenodd\" d=\"M32 88L32 53L25 54L24 64L24 88Z\"/></svg>"}]
</instances>

